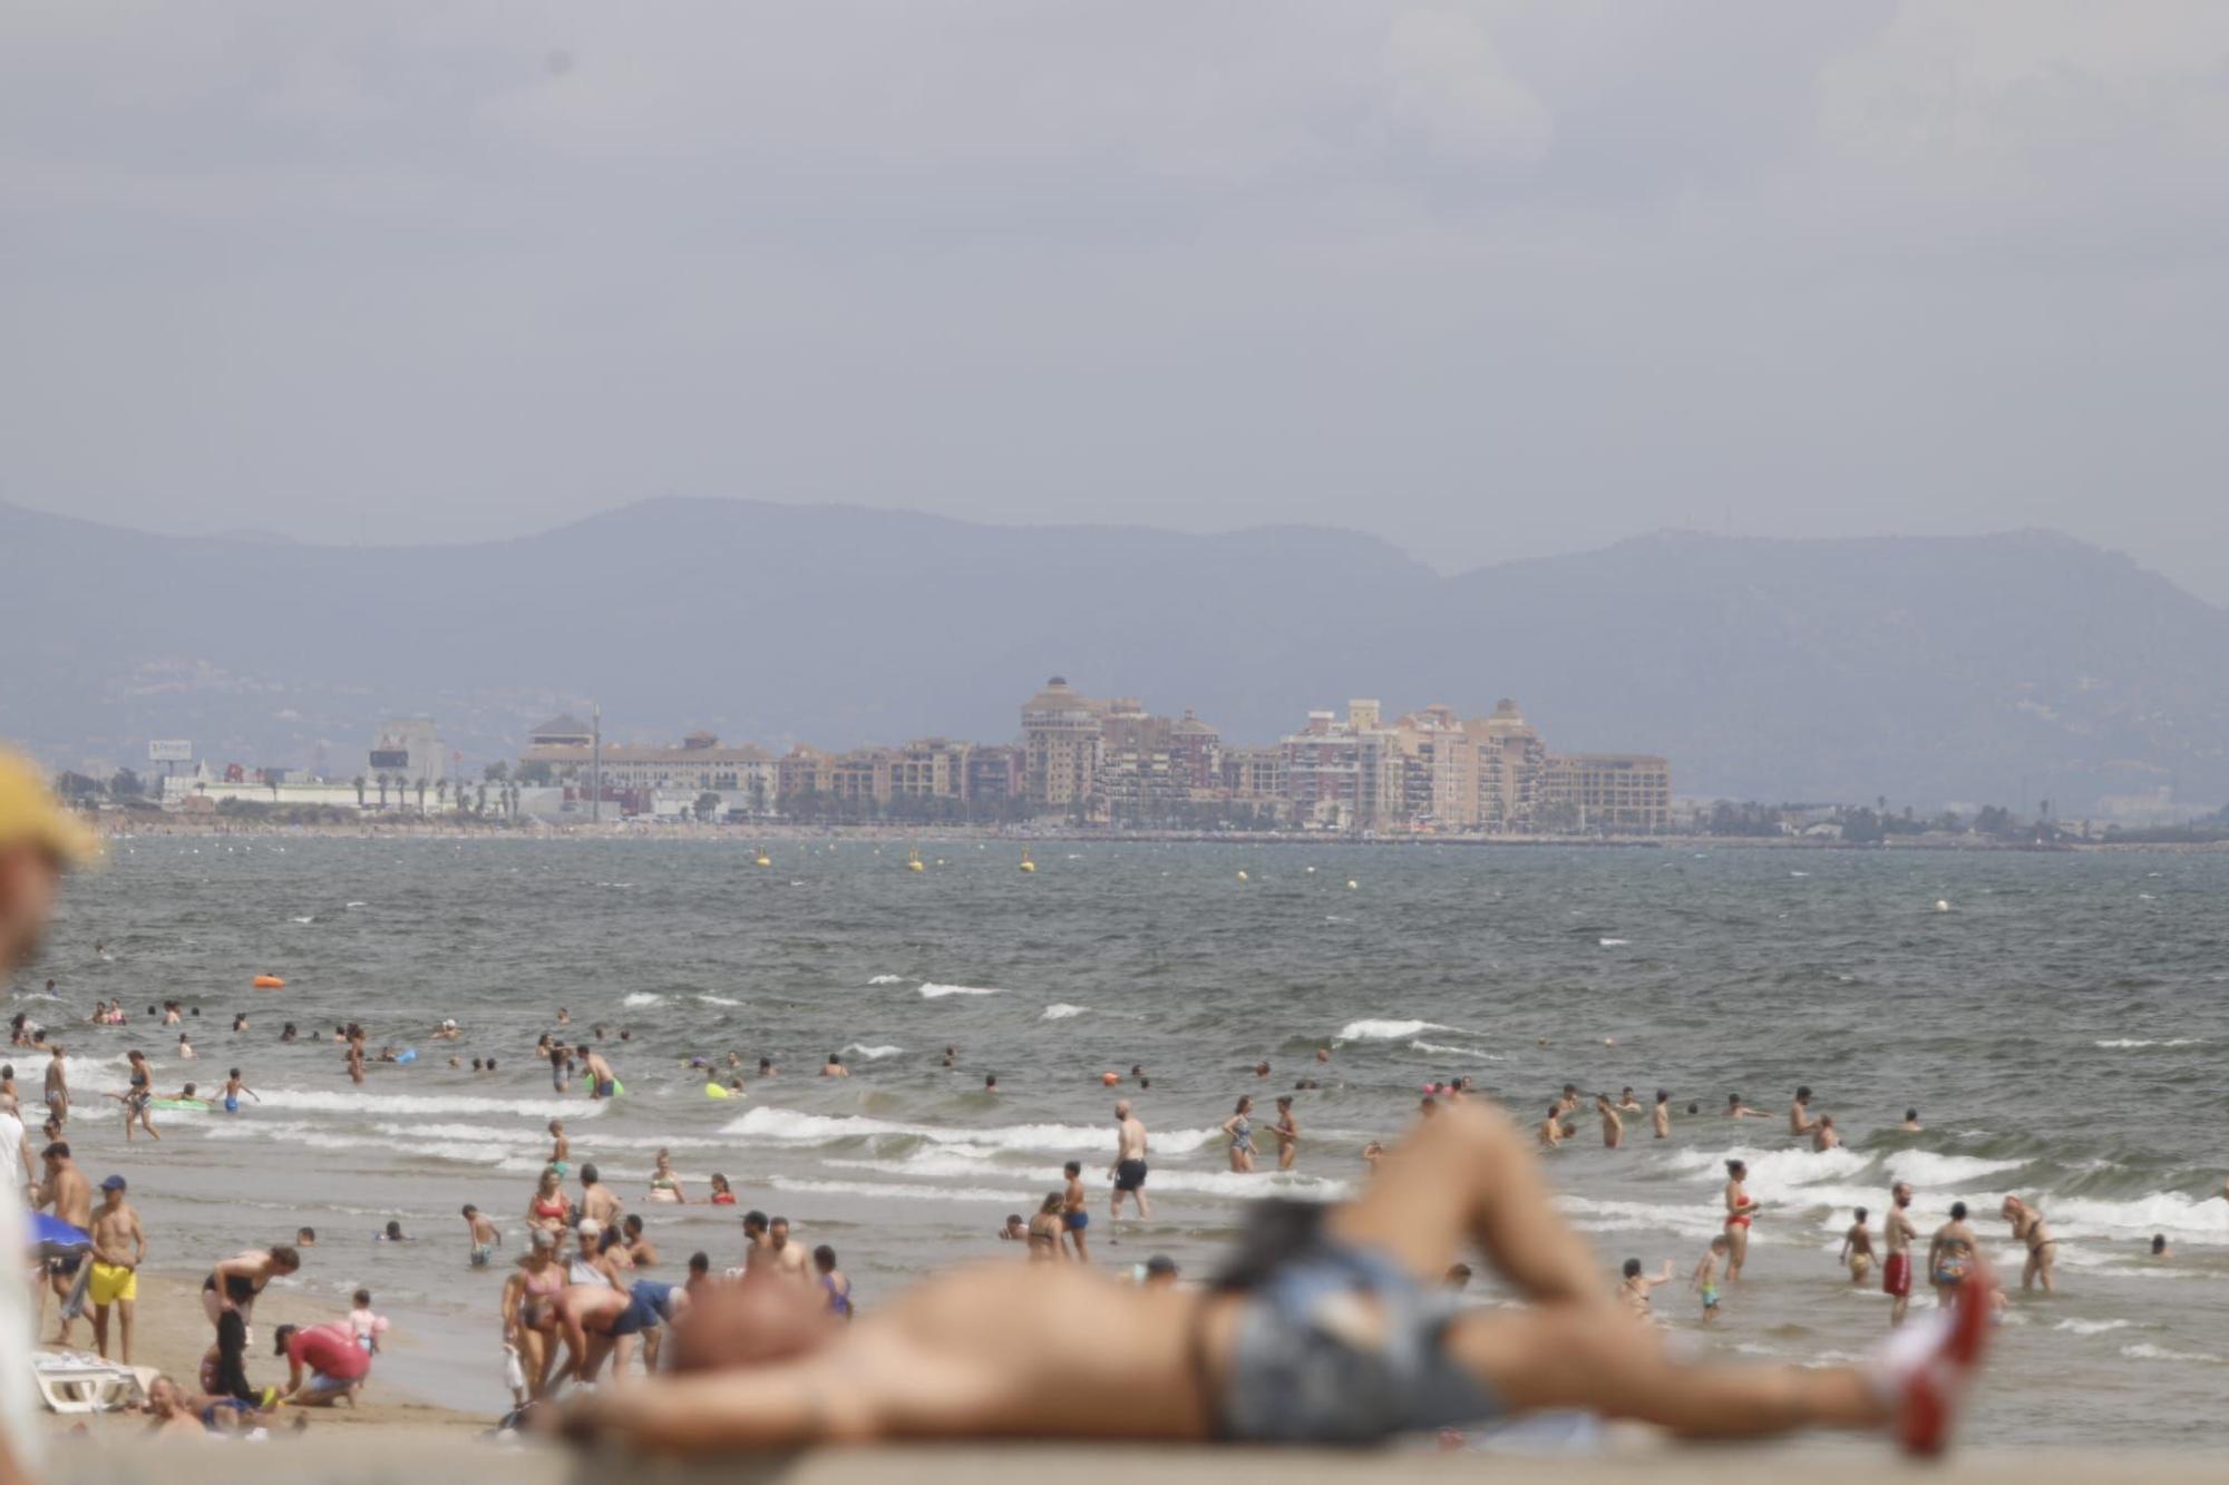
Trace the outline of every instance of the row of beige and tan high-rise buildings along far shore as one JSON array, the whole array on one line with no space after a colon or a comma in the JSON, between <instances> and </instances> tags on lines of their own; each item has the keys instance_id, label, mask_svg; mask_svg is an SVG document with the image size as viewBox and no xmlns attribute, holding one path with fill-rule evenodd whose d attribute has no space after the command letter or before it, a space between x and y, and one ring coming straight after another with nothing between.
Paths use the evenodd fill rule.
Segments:
<instances>
[{"instance_id":1,"label":"row of beige and tan high-rise buildings along far shore","mask_svg":"<svg viewBox=\"0 0 2229 1485\"><path fill-rule=\"evenodd\" d=\"M1284 738L1226 742L1193 709L1157 716L1063 676L1019 707L1012 740L916 738L898 747L773 751L691 731L620 742L571 711L528 731L515 760L470 778L432 718L383 722L357 771L256 767L149 742L149 794L169 807L325 805L419 814L499 807L548 821L695 816L751 821L992 821L1239 825L1324 832L1656 834L1672 825L1670 763L1652 754L1563 754L1518 705L1464 718L1429 705L1386 716L1375 698L1317 707ZM178 765L185 765L183 769ZM134 774L136 780L136 774ZM428 807L430 805L430 807Z\"/></svg>"}]
</instances>

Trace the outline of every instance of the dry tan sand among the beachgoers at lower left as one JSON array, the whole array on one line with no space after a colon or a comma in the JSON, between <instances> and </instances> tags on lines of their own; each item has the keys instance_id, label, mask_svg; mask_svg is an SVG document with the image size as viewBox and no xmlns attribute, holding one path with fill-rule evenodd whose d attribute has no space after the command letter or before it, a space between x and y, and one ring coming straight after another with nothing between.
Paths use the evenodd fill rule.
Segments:
<instances>
[{"instance_id":1,"label":"dry tan sand among the beachgoers at lower left","mask_svg":"<svg viewBox=\"0 0 2229 1485\"><path fill-rule=\"evenodd\" d=\"M143 1273L138 1311L132 1329L132 1365L156 1367L163 1374L194 1385L201 1358L210 1349L210 1320L201 1309L201 1287L178 1275ZM323 1324L345 1318L343 1311L319 1295L270 1289L256 1300L254 1336L256 1345L247 1356L247 1376L256 1385L285 1385L285 1360L272 1353L272 1333L281 1324ZM42 1340L53 1336L53 1307L47 1307L47 1329ZM80 1320L71 1331L71 1351L91 1351L94 1336L89 1320ZM388 1351L406 1356L417 1342L406 1329L388 1333ZM42 1347L56 1351L60 1347ZM109 1320L109 1360L120 1360L116 1320ZM308 1407L281 1409L279 1425L321 1431L330 1427L406 1425L437 1431L481 1431L488 1420L477 1414L461 1414L424 1398L408 1396L395 1382L381 1378L381 1353L372 1362L372 1376L363 1387L357 1407ZM140 1414L47 1414L47 1427L56 1434L76 1434L80 1427L98 1438L129 1438L145 1429ZM67 1452L67 1445L56 1445Z\"/></svg>"}]
</instances>

